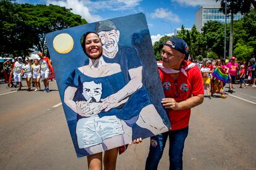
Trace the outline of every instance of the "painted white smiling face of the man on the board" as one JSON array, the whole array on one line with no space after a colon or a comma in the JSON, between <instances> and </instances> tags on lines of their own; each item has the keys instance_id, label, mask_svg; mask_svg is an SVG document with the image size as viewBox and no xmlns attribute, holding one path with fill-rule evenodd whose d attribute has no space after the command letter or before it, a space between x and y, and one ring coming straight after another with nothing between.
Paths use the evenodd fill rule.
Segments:
<instances>
[{"instance_id":1,"label":"painted white smiling face of the man on the board","mask_svg":"<svg viewBox=\"0 0 256 170\"><path fill-rule=\"evenodd\" d=\"M109 53L114 52L118 46L119 31L100 31L98 34L101 39L103 50Z\"/></svg>"}]
</instances>

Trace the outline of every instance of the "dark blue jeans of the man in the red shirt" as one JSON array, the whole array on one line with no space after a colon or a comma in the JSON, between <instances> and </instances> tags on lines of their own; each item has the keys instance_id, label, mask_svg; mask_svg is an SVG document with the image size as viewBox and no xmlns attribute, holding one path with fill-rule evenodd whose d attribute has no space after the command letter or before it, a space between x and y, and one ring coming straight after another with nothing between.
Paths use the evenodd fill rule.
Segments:
<instances>
[{"instance_id":1,"label":"dark blue jeans of the man in the red shirt","mask_svg":"<svg viewBox=\"0 0 256 170\"><path fill-rule=\"evenodd\" d=\"M189 133L189 127L176 131L164 132L150 138L150 152L146 161L147 170L157 169L163 155L166 140L169 136L169 169L182 169L182 156L185 139Z\"/></svg>"}]
</instances>

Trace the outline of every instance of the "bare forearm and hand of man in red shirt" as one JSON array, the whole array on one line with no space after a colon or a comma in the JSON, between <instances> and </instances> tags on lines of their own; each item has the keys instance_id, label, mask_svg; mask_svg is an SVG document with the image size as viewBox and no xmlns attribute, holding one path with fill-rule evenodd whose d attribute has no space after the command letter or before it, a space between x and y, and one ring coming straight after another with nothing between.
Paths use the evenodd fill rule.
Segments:
<instances>
[{"instance_id":1,"label":"bare forearm and hand of man in red shirt","mask_svg":"<svg viewBox=\"0 0 256 170\"><path fill-rule=\"evenodd\" d=\"M184 110L187 108L196 107L203 103L203 94L198 94L190 97L187 100L176 102L173 98L164 98L162 101L165 108L171 108L173 110Z\"/></svg>"}]
</instances>

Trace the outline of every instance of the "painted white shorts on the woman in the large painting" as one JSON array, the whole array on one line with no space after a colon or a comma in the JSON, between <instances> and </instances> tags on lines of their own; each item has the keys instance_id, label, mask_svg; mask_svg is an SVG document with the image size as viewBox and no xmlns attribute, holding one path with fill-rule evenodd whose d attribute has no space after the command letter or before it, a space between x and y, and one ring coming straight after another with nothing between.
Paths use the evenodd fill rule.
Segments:
<instances>
[{"instance_id":1,"label":"painted white shorts on the woman in the large painting","mask_svg":"<svg viewBox=\"0 0 256 170\"><path fill-rule=\"evenodd\" d=\"M88 148L102 144L103 140L124 134L121 119L116 116L98 115L77 121L77 143L79 148Z\"/></svg>"}]
</instances>

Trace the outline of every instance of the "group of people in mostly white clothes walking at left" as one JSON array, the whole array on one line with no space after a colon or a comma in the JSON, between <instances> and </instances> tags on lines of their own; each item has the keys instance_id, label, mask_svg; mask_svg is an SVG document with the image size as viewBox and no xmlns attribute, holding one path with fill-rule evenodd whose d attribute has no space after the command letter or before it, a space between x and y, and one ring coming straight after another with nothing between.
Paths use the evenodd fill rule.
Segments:
<instances>
[{"instance_id":1,"label":"group of people in mostly white clothes walking at left","mask_svg":"<svg viewBox=\"0 0 256 170\"><path fill-rule=\"evenodd\" d=\"M38 58L30 60L22 57L15 57L14 63L11 60L6 60L3 63L2 72L4 73L5 83L7 88L15 87L17 91L22 89L22 79L27 83L27 91L32 91L32 86L35 86L34 91L41 91L40 79L43 80L45 86L44 92L49 92L49 75L53 74L53 66L48 57L43 52L38 53ZM14 82L12 81L14 80Z\"/></svg>"}]
</instances>

